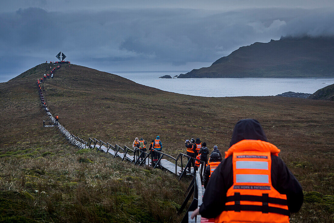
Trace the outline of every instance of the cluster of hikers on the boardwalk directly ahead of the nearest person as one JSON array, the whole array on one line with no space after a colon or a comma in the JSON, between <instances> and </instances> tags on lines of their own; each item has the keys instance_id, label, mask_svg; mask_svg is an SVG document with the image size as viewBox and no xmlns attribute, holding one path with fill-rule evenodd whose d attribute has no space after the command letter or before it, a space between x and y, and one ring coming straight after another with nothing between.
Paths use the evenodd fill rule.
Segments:
<instances>
[{"instance_id":1,"label":"cluster of hikers on the boardwalk directly ahead of the nearest person","mask_svg":"<svg viewBox=\"0 0 334 223\"><path fill-rule=\"evenodd\" d=\"M199 138L196 140L192 138L191 140L185 141L185 147L187 148L187 155L195 159L191 159L189 165L186 167L188 168L188 172L191 172L191 165L194 167L194 171L197 171L200 165L201 160L204 162L204 179L203 184L204 188L206 188L206 184L208 183L211 173L217 168L219 163L221 162L221 153L218 150L218 146L214 146L213 150L209 156L209 149L206 147L206 142L201 142ZM208 168L207 168L208 167Z\"/></svg>"}]
</instances>

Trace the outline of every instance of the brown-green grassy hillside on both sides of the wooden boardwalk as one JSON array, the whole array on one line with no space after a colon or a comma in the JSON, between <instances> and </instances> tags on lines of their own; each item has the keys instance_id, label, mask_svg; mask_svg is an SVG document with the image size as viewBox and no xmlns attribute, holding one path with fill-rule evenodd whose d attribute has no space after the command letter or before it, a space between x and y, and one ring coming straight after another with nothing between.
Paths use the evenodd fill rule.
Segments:
<instances>
[{"instance_id":1,"label":"brown-green grassy hillside on both sides of the wooden boardwalk","mask_svg":"<svg viewBox=\"0 0 334 223\"><path fill-rule=\"evenodd\" d=\"M0 83L0 222L180 221L189 179L68 149L43 128L35 81L49 66ZM173 156L191 137L224 152L235 123L255 118L305 191L291 222L333 219L333 101L182 95L78 65L57 70L43 87L51 113L78 137L129 146L159 135Z\"/></svg>"}]
</instances>

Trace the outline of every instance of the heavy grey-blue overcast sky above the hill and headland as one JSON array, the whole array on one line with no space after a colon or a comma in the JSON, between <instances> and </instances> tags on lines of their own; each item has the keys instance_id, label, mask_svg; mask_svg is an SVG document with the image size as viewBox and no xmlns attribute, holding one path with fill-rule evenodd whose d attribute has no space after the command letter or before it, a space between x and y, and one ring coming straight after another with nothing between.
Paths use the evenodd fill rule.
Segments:
<instances>
[{"instance_id":1,"label":"heavy grey-blue overcast sky above the hill and headland","mask_svg":"<svg viewBox=\"0 0 334 223\"><path fill-rule=\"evenodd\" d=\"M108 72L190 71L254 42L333 35L333 9L333 0L6 1L0 81L59 51Z\"/></svg>"}]
</instances>

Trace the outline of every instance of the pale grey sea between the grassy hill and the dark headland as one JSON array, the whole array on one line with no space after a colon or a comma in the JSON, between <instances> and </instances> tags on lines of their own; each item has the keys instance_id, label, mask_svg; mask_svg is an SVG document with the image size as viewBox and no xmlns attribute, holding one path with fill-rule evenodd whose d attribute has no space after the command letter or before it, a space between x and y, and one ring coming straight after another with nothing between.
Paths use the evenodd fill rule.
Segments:
<instances>
[{"instance_id":1,"label":"pale grey sea between the grassy hill and the dark headland","mask_svg":"<svg viewBox=\"0 0 334 223\"><path fill-rule=\"evenodd\" d=\"M158 78L187 71L112 72L136 83L180 94L205 97L269 96L287 91L314 93L334 78Z\"/></svg>"}]
</instances>

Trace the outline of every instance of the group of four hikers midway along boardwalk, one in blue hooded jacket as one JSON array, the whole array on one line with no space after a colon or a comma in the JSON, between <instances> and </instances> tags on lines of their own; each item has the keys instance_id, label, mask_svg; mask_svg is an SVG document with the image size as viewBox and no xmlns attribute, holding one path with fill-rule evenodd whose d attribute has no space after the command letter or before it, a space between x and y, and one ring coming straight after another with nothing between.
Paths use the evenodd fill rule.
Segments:
<instances>
[{"instance_id":1,"label":"group of four hikers midway along boardwalk, one in blue hooded jacket","mask_svg":"<svg viewBox=\"0 0 334 223\"><path fill-rule=\"evenodd\" d=\"M147 151L146 145L147 145L147 142L143 138L140 138L140 140L136 138L135 141L133 141L133 144L132 144L132 148L134 149L133 156L135 158L135 156L137 155L140 162L143 161L143 159L145 158L144 153L140 152L140 150L146 152ZM162 144L161 144L160 136L157 136L156 139L153 139L152 142L150 143L149 151L151 151L152 149L155 149L161 152ZM152 163L156 163L159 159L160 159L160 153L152 151ZM146 160L144 160L143 163L145 165ZM150 165L152 165L152 163L150 163ZM158 165L160 165L160 161Z\"/></svg>"}]
</instances>

